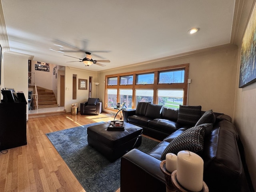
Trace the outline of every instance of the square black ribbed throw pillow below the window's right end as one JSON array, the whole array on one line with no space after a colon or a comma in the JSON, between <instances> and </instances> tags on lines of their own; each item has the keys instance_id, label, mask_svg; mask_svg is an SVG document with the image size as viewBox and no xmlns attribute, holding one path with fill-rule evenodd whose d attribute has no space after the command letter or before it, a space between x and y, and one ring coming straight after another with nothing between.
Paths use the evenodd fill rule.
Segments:
<instances>
[{"instance_id":1,"label":"square black ribbed throw pillow below the window's right end","mask_svg":"<svg viewBox=\"0 0 256 192\"><path fill-rule=\"evenodd\" d=\"M194 126L201 118L201 106L180 105L177 123Z\"/></svg>"}]
</instances>

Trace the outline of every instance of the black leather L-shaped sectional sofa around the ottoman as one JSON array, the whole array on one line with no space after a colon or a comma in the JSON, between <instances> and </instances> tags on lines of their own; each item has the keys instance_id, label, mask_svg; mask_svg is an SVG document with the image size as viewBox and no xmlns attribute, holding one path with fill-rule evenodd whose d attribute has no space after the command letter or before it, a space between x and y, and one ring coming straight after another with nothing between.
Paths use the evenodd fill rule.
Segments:
<instances>
[{"instance_id":1,"label":"black leather L-shaped sectional sofa around the ottoman","mask_svg":"<svg viewBox=\"0 0 256 192\"><path fill-rule=\"evenodd\" d=\"M121 192L166 191L164 174L160 170L161 155L172 140L192 125L179 122L179 110L149 103L139 103L136 110L124 110L123 114L125 122L141 126L143 134L162 142L148 153L135 148L122 156ZM230 116L214 113L214 118L200 153L204 160L204 182L210 192L250 191L238 148L238 132Z\"/></svg>"}]
</instances>

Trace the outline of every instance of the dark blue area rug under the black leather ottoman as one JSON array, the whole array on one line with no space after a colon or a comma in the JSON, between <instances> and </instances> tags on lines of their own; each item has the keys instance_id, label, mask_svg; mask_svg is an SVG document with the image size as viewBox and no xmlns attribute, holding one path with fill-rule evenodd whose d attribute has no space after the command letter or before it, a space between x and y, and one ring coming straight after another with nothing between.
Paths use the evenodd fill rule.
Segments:
<instances>
[{"instance_id":1,"label":"dark blue area rug under the black leather ottoman","mask_svg":"<svg viewBox=\"0 0 256 192\"><path fill-rule=\"evenodd\" d=\"M120 187L120 158L110 162L87 142L87 128L102 123L46 134L86 192L114 192ZM142 137L138 148L149 152L158 143Z\"/></svg>"}]
</instances>

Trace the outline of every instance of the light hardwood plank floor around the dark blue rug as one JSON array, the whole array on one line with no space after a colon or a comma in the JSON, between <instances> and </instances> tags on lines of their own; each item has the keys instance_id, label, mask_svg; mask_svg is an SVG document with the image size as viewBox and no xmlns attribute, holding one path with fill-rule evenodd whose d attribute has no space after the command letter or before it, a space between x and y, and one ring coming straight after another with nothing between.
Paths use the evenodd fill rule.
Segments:
<instances>
[{"instance_id":1,"label":"light hardwood plank floor around the dark blue rug","mask_svg":"<svg viewBox=\"0 0 256 192\"><path fill-rule=\"evenodd\" d=\"M71 113L29 118L28 144L0 153L0 192L84 192L46 133L100 121L113 116ZM118 189L120 191L120 189Z\"/></svg>"}]
</instances>

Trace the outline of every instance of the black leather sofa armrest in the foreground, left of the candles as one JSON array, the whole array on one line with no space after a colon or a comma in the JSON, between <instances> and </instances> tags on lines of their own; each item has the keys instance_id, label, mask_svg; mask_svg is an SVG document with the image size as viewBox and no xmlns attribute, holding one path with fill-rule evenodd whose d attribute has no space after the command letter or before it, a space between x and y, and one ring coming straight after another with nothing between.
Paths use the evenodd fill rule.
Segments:
<instances>
[{"instance_id":1,"label":"black leather sofa armrest in the foreground, left of the candles","mask_svg":"<svg viewBox=\"0 0 256 192\"><path fill-rule=\"evenodd\" d=\"M121 192L166 191L160 160L138 149L121 158Z\"/></svg>"}]
</instances>

